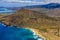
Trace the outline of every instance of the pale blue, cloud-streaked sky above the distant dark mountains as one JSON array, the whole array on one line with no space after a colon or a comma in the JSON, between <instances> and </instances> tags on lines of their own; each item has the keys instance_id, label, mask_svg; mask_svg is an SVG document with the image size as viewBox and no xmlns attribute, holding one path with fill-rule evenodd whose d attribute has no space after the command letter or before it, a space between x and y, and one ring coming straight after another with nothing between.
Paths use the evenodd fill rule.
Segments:
<instances>
[{"instance_id":1,"label":"pale blue, cloud-streaked sky above the distant dark mountains","mask_svg":"<svg viewBox=\"0 0 60 40\"><path fill-rule=\"evenodd\" d=\"M27 5L42 5L47 3L60 3L60 0L0 0L0 7L20 7Z\"/></svg>"}]
</instances>

